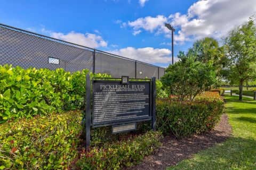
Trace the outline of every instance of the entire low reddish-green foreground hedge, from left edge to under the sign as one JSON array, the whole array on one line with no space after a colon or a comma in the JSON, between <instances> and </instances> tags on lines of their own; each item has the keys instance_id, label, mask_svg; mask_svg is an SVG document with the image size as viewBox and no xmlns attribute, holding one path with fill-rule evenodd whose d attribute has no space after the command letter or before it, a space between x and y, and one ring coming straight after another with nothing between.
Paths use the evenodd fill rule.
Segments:
<instances>
[{"instance_id":1,"label":"entire low reddish-green foreground hedge, from left edge to under the sign","mask_svg":"<svg viewBox=\"0 0 256 170\"><path fill-rule=\"evenodd\" d=\"M91 131L85 151L81 112L23 118L0 125L0 169L119 169L141 162L158 148L161 133Z\"/></svg>"}]
</instances>

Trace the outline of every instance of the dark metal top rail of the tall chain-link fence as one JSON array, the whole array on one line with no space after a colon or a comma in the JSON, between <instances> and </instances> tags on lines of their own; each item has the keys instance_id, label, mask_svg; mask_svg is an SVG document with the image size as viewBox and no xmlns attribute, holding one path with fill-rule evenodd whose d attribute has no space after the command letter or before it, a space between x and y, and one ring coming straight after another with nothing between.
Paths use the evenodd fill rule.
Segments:
<instances>
[{"instance_id":1,"label":"dark metal top rail of the tall chain-link fence","mask_svg":"<svg viewBox=\"0 0 256 170\"><path fill-rule=\"evenodd\" d=\"M46 38L46 39L51 39L51 40L57 40L59 42L62 42L62 43L67 43L69 45L75 45L75 46L78 46L78 47L82 47L82 48L87 48L87 49L91 49L91 50L97 50L98 52L100 53L106 53L108 55L112 55L112 56L116 56L116 57L119 57L119 58L124 58L125 60L130 60L130 61L134 61L134 62L139 62L139 63L142 63L142 64L146 64L146 65L150 65L150 66L154 66L154 67L159 67L161 69L165 69L164 67L161 67L161 66L157 66L157 65L154 65L154 64L149 64L149 63L145 63L145 62L141 62L141 61L138 61L138 60L133 60L131 58L127 58L127 57L124 57L124 56L120 56L120 55L116 55L116 54L112 54L112 53L108 53L108 52L104 52L102 50L99 50L99 49L95 49L95 48L91 48L91 47L86 47L86 46L83 46L83 45L79 45L79 44L75 44L75 43L70 43L68 41L64 41L64 40L60 40L60 39L57 39L57 38L53 38L53 37L49 37L49 36L45 36L45 35L42 35L40 33L36 33L36 32L32 32L32 31L28 31L28 30L24 30L24 29L20 29L20 28L16 28L16 27L12 27L10 25L6 25L6 24L3 24L3 23L0 23L0 27L4 27L6 29L12 29L14 31L22 31L23 33L29 33L33 36L39 36L38 38Z\"/></svg>"}]
</instances>

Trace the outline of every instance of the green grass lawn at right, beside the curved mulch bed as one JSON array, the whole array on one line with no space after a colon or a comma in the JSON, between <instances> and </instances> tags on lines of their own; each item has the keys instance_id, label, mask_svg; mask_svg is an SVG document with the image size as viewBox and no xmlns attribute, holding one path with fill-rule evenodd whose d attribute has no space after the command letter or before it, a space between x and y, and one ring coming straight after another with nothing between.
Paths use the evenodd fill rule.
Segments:
<instances>
[{"instance_id":1,"label":"green grass lawn at right, beside the curved mulch bed","mask_svg":"<svg viewBox=\"0 0 256 170\"><path fill-rule=\"evenodd\" d=\"M225 96L233 137L193 155L171 169L256 169L256 101Z\"/></svg>"}]
</instances>

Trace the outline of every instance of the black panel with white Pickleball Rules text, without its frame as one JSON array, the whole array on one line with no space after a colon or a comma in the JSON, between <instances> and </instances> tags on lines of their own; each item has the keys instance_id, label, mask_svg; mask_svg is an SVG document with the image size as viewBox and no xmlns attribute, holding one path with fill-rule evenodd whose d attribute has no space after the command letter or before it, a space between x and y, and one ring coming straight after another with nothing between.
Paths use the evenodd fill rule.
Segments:
<instances>
[{"instance_id":1,"label":"black panel with white Pickleball Rules text, without its frame","mask_svg":"<svg viewBox=\"0 0 256 170\"><path fill-rule=\"evenodd\" d=\"M94 82L93 124L111 124L150 117L150 83Z\"/></svg>"}]
</instances>

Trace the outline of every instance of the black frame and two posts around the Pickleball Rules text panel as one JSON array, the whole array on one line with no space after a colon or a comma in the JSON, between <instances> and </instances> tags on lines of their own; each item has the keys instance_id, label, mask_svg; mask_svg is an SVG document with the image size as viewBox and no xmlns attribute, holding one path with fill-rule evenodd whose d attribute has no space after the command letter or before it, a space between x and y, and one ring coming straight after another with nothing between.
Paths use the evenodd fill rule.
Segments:
<instances>
[{"instance_id":1,"label":"black frame and two posts around the Pickleball Rules text panel","mask_svg":"<svg viewBox=\"0 0 256 170\"><path fill-rule=\"evenodd\" d=\"M92 83L91 83L91 79L90 79L90 74L86 75L86 150L89 151L89 147L90 147L90 138L91 138L91 126L92 128L96 128L96 127L100 127L100 126L110 126L110 125L125 125L128 123L137 123L137 122L141 122L141 121L150 121L151 120L151 128L156 131L156 78L153 77L151 79L129 79L129 81L132 82L149 82L150 83L150 97L149 97L149 101L150 101L150 113L149 113L149 117L145 118L145 119L139 119L139 120L133 120L133 121L125 121L125 122L115 122L115 123L111 123L111 124L102 124L102 125L93 125L92 123L92 114L91 114L91 85L93 86L93 82L94 81L118 81L118 82L122 82L122 79L120 78L93 78L92 79ZM94 94L94 93L93 93ZM94 98L93 98L94 101ZM94 108L94 107L93 107Z\"/></svg>"}]
</instances>

